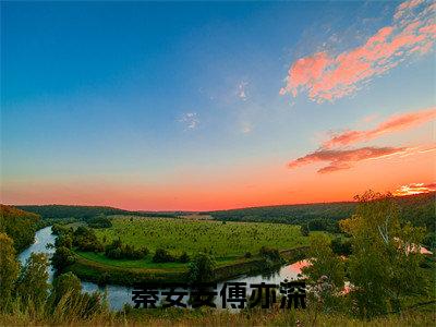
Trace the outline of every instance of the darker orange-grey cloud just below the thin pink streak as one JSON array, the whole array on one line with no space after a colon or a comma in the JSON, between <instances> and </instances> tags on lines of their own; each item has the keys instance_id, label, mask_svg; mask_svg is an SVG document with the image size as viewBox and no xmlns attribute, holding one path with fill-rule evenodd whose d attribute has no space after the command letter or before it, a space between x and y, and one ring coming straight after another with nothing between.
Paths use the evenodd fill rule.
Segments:
<instances>
[{"instance_id":1,"label":"darker orange-grey cloud just below the thin pink streak","mask_svg":"<svg viewBox=\"0 0 436 327\"><path fill-rule=\"evenodd\" d=\"M405 147L362 147L356 149L318 149L314 153L300 157L288 164L293 169L314 162L328 162L318 170L319 173L328 173L353 167L355 162L378 159L392 155L405 154Z\"/></svg>"}]
</instances>

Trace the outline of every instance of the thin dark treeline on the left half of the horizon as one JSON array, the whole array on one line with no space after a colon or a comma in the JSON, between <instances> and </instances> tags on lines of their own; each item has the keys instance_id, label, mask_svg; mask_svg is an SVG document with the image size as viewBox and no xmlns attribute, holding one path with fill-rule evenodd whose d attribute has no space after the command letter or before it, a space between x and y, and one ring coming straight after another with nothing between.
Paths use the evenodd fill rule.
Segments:
<instances>
[{"instance_id":1,"label":"thin dark treeline on the left half of the horizon","mask_svg":"<svg viewBox=\"0 0 436 327\"><path fill-rule=\"evenodd\" d=\"M70 205L41 205L41 206L16 206L22 210L40 215L44 219L66 219L75 218L78 220L89 220L97 216L111 215L130 215L142 217L162 217L174 218L178 214L172 213L145 213L145 211L129 211L112 207L104 206L70 206Z\"/></svg>"}]
</instances>

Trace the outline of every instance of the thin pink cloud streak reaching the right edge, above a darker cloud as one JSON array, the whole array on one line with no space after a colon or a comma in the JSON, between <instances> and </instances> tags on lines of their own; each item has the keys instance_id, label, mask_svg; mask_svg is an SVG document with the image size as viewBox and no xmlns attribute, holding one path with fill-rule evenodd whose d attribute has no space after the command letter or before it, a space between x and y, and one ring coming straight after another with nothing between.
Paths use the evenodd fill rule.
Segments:
<instances>
[{"instance_id":1,"label":"thin pink cloud streak reaching the right edge, above a darker cloud","mask_svg":"<svg viewBox=\"0 0 436 327\"><path fill-rule=\"evenodd\" d=\"M343 146L358 142L365 142L379 137L387 133L398 132L417 126L436 118L436 107L425 110L396 114L382 122L375 129L367 131L346 131L335 134L330 140L323 144L323 148L331 148L334 146Z\"/></svg>"}]
</instances>

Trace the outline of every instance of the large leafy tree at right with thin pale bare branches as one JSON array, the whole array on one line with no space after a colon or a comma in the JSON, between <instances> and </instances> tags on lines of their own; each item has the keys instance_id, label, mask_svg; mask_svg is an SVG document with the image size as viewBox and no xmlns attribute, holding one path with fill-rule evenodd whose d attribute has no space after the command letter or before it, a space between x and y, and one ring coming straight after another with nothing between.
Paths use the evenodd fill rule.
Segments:
<instances>
[{"instance_id":1,"label":"large leafy tree at right with thin pale bare branches","mask_svg":"<svg viewBox=\"0 0 436 327\"><path fill-rule=\"evenodd\" d=\"M355 215L340 222L351 235L349 258L352 296L362 317L400 311L405 295L422 293L419 246L424 229L400 223L399 206L391 194L368 191L356 196Z\"/></svg>"}]
</instances>

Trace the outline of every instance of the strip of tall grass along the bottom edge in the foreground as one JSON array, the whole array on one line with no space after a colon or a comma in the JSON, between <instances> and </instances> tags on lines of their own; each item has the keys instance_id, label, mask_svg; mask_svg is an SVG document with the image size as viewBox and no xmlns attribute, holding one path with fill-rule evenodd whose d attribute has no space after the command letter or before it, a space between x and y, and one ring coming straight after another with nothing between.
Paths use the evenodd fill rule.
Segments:
<instances>
[{"instance_id":1,"label":"strip of tall grass along the bottom edge in the foreground","mask_svg":"<svg viewBox=\"0 0 436 327\"><path fill-rule=\"evenodd\" d=\"M88 312L90 303L68 293L56 304L23 305L15 301L12 311L0 314L0 326L435 326L436 313L410 311L363 322L340 314L319 314L313 310L245 310L240 313L201 308L126 308L112 312L107 304ZM92 305L90 305L92 306Z\"/></svg>"}]
</instances>

